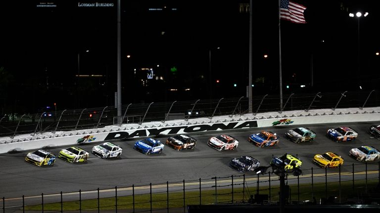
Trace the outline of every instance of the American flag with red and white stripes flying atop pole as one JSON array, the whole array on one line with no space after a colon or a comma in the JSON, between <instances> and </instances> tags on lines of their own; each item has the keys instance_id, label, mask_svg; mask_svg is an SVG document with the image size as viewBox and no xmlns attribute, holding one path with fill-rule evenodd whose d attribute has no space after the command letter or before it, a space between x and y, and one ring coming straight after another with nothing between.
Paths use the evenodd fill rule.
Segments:
<instances>
[{"instance_id":1,"label":"American flag with red and white stripes flying atop pole","mask_svg":"<svg viewBox=\"0 0 380 213\"><path fill-rule=\"evenodd\" d=\"M289 0L281 0L280 19L285 19L293 23L305 24L305 16L303 11L306 7L304 5L291 2Z\"/></svg>"}]
</instances>

